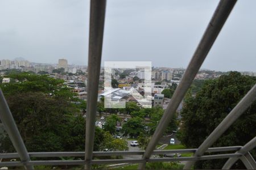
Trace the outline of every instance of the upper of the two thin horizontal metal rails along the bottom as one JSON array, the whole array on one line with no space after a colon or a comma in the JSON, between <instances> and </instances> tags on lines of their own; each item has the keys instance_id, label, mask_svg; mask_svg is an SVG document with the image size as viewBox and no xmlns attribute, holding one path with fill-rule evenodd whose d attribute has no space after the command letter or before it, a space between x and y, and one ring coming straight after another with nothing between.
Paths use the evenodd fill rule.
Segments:
<instances>
[{"instance_id":1,"label":"upper of the two thin horizontal metal rails along the bottom","mask_svg":"<svg viewBox=\"0 0 256 170\"><path fill-rule=\"evenodd\" d=\"M242 146L227 146L227 147L212 147L208 148L206 152L223 152L223 151L238 151ZM154 150L152 155L160 154L175 154L175 153L188 153L195 152L196 148L181 149L181 150ZM85 152L28 152L31 158L42 158L42 157L59 157L59 156L73 156L73 157L84 157ZM143 155L144 151L111 151L101 152L94 151L93 156L112 156L112 155ZM18 158L18 153L5 153L0 154L0 159L6 158Z\"/></svg>"}]
</instances>

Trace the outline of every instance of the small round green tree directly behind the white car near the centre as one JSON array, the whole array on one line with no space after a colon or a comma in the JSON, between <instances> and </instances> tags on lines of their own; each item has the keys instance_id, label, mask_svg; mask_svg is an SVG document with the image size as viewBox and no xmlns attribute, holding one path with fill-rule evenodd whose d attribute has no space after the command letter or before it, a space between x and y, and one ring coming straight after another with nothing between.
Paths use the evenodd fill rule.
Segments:
<instances>
[{"instance_id":1,"label":"small round green tree directly behind the white car near the centre","mask_svg":"<svg viewBox=\"0 0 256 170\"><path fill-rule=\"evenodd\" d=\"M136 138L140 133L144 133L143 119L140 117L130 118L122 126L122 132L124 136L129 135L130 137Z\"/></svg>"}]
</instances>

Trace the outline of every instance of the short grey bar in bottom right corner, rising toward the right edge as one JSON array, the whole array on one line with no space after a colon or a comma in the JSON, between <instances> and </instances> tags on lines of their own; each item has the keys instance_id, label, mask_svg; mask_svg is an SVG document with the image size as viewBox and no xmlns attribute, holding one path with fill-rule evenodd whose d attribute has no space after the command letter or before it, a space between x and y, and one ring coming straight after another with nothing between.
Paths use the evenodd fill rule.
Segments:
<instances>
[{"instance_id":1,"label":"short grey bar in bottom right corner, rising toward the right edge","mask_svg":"<svg viewBox=\"0 0 256 170\"><path fill-rule=\"evenodd\" d=\"M247 152L252 150L254 147L256 147L256 137L254 137L253 139L251 139L251 141L246 143L246 145L243 146L239 151L237 151L236 154L246 155ZM224 164L224 166L222 167L222 169L230 169L232 165L237 162L238 159L239 158L229 158L227 162ZM252 165L254 165L253 162L252 162Z\"/></svg>"}]
</instances>

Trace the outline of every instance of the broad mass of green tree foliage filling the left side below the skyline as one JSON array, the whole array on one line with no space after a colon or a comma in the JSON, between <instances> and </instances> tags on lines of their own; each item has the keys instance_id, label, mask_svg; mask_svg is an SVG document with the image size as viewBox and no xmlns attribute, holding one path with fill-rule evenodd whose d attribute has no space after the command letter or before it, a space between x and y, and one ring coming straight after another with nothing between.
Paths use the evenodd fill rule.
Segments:
<instances>
[{"instance_id":1,"label":"broad mass of green tree foliage filling the left side below the skyline","mask_svg":"<svg viewBox=\"0 0 256 170\"><path fill-rule=\"evenodd\" d=\"M84 151L85 101L77 99L60 79L31 73L7 76L13 82L0 87L28 151ZM1 151L15 151L9 137L1 140ZM100 128L96 128L94 141L95 151L127 147ZM118 144L109 145L111 141Z\"/></svg>"}]
</instances>

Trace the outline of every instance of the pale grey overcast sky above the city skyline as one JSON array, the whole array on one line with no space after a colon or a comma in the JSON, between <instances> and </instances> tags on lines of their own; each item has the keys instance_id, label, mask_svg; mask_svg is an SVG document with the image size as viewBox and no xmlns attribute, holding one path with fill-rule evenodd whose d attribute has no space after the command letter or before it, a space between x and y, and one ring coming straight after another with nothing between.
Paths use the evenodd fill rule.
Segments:
<instances>
[{"instance_id":1,"label":"pale grey overcast sky above the city skyline","mask_svg":"<svg viewBox=\"0 0 256 170\"><path fill-rule=\"evenodd\" d=\"M109 0L102 61L187 67L218 1ZM256 1L240 0L202 66L256 72ZM87 65L89 0L0 0L0 59Z\"/></svg>"}]
</instances>

